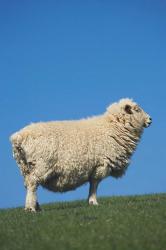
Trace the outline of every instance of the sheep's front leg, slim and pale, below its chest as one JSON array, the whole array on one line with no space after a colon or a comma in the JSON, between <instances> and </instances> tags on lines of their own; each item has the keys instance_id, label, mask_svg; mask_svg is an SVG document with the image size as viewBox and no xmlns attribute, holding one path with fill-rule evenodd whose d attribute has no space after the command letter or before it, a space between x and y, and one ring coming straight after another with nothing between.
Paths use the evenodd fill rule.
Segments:
<instances>
[{"instance_id":1,"label":"sheep's front leg, slim and pale, below its chest","mask_svg":"<svg viewBox=\"0 0 166 250\"><path fill-rule=\"evenodd\" d=\"M98 184L99 184L98 180L92 179L90 181L89 196L88 196L89 205L98 205L97 197L96 197Z\"/></svg>"}]
</instances>

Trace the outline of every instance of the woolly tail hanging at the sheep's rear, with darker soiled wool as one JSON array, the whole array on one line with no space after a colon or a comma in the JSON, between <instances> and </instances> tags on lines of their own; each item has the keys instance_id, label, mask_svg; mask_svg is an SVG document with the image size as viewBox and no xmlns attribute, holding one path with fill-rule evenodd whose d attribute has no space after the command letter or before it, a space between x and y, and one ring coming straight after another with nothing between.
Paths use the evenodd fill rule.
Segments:
<instances>
[{"instance_id":1,"label":"woolly tail hanging at the sheep's rear, with darker soiled wool","mask_svg":"<svg viewBox=\"0 0 166 250\"><path fill-rule=\"evenodd\" d=\"M13 157L17 164L20 166L21 173L23 175L29 174L29 167L27 163L26 152L23 148L22 142L24 138L19 132L14 133L10 136L10 141L13 148Z\"/></svg>"}]
</instances>

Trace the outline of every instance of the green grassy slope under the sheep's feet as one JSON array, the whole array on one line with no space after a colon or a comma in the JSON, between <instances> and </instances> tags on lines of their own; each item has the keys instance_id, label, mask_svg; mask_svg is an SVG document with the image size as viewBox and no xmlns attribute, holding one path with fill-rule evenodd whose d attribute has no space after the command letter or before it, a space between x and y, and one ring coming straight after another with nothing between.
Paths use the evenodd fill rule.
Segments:
<instances>
[{"instance_id":1,"label":"green grassy slope under the sheep's feet","mask_svg":"<svg viewBox=\"0 0 166 250\"><path fill-rule=\"evenodd\" d=\"M0 210L0 250L166 249L166 194Z\"/></svg>"}]
</instances>

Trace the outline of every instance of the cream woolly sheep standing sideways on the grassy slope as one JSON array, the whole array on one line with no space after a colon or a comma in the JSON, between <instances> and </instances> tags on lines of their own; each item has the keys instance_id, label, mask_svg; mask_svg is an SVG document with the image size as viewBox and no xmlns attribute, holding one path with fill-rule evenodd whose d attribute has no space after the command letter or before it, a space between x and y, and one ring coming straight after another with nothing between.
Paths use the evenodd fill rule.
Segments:
<instances>
[{"instance_id":1,"label":"cream woolly sheep standing sideways on the grassy slope","mask_svg":"<svg viewBox=\"0 0 166 250\"><path fill-rule=\"evenodd\" d=\"M81 120L32 123L11 135L13 156L27 189L25 210L39 211L37 187L65 192L89 182L88 203L98 205L102 179L127 170L151 117L132 99Z\"/></svg>"}]
</instances>

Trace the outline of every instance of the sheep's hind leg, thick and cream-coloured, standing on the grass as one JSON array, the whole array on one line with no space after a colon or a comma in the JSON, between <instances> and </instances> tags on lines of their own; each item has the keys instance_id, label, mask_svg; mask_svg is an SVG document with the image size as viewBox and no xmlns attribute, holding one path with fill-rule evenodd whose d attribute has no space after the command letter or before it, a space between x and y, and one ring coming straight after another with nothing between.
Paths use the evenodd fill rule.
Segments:
<instances>
[{"instance_id":1,"label":"sheep's hind leg, thick and cream-coloured, standing on the grass","mask_svg":"<svg viewBox=\"0 0 166 250\"><path fill-rule=\"evenodd\" d=\"M25 202L25 211L37 212L40 211L39 203L37 202L37 181L34 178L28 178L26 181L27 195Z\"/></svg>"}]
</instances>

